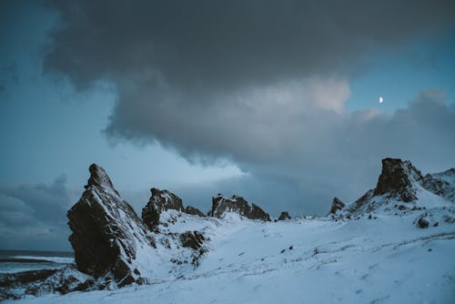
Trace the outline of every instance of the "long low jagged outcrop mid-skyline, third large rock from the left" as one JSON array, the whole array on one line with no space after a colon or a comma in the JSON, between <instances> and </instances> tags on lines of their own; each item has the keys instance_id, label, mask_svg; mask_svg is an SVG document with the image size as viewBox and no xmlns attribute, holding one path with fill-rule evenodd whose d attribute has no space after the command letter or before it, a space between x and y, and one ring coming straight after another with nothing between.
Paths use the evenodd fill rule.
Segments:
<instances>
[{"instance_id":1,"label":"long low jagged outcrop mid-skyline, third large rock from the left","mask_svg":"<svg viewBox=\"0 0 455 304\"><path fill-rule=\"evenodd\" d=\"M222 218L227 212L234 212L250 219L270 220L267 212L255 204L250 207L245 198L238 196L226 198L222 194L218 194L217 197L212 198L212 209L208 212L209 217Z\"/></svg>"}]
</instances>

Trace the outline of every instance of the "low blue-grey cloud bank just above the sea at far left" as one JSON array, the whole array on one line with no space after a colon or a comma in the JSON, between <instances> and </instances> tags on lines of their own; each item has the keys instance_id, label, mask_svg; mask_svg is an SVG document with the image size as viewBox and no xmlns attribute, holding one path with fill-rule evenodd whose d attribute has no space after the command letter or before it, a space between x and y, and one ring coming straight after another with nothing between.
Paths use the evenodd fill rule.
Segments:
<instances>
[{"instance_id":1,"label":"low blue-grey cloud bank just above the sea at far left","mask_svg":"<svg viewBox=\"0 0 455 304\"><path fill-rule=\"evenodd\" d=\"M51 185L0 185L2 248L67 248L66 177Z\"/></svg>"}]
</instances>

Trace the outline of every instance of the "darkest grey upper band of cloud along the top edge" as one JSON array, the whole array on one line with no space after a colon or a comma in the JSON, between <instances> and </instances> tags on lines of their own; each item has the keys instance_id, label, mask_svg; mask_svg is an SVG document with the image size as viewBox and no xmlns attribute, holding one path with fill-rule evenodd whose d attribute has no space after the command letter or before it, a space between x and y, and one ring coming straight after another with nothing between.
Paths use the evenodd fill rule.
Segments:
<instances>
[{"instance_id":1,"label":"darkest grey upper band of cloud along the top edge","mask_svg":"<svg viewBox=\"0 0 455 304\"><path fill-rule=\"evenodd\" d=\"M455 11L443 0L51 3L63 25L46 65L76 85L137 76L192 90L344 72L374 48L447 25Z\"/></svg>"}]
</instances>

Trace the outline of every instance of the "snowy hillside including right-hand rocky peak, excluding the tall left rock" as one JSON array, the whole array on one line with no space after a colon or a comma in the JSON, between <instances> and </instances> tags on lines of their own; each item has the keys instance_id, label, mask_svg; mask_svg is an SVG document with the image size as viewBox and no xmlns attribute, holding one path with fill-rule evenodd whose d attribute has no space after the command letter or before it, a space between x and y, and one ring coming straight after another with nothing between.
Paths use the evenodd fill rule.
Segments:
<instances>
[{"instance_id":1,"label":"snowy hillside including right-hand rocky peak, excluding the tall left rock","mask_svg":"<svg viewBox=\"0 0 455 304\"><path fill-rule=\"evenodd\" d=\"M407 162L383 165L374 189L344 207L337 201L327 218L259 221L164 209L149 252L161 262L146 285L12 302L454 303L451 171L423 177ZM196 247L203 254L180 246L188 231L204 236Z\"/></svg>"}]
</instances>

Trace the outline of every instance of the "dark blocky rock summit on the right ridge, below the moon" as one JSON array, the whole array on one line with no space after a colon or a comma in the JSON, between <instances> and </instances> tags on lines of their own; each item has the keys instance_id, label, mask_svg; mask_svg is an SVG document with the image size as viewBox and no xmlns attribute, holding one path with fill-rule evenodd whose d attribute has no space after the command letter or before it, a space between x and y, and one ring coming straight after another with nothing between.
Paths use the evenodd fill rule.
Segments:
<instances>
[{"instance_id":1,"label":"dark blocky rock summit on the right ridge, below the moon","mask_svg":"<svg viewBox=\"0 0 455 304\"><path fill-rule=\"evenodd\" d=\"M384 158L374 195L387 195L389 198L399 198L403 202L410 202L417 198L413 181L422 182L423 177L410 161Z\"/></svg>"}]
</instances>

